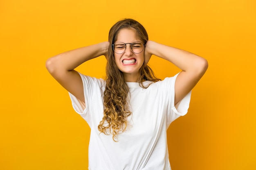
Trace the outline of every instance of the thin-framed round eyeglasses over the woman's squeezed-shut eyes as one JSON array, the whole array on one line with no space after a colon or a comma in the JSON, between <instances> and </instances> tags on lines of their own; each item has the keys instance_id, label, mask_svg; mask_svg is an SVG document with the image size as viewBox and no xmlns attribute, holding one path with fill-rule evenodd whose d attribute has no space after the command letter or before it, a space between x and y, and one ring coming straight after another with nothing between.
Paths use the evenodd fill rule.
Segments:
<instances>
[{"instance_id":1,"label":"thin-framed round eyeglasses over the woman's squeezed-shut eyes","mask_svg":"<svg viewBox=\"0 0 256 170\"><path fill-rule=\"evenodd\" d=\"M112 48L115 53L122 54L126 50L126 44L131 45L130 47L132 49L132 52L134 52L135 54L141 53L144 49L144 46L146 46L146 44L143 44L140 41L136 41L133 43L115 42L114 44L112 44Z\"/></svg>"}]
</instances>

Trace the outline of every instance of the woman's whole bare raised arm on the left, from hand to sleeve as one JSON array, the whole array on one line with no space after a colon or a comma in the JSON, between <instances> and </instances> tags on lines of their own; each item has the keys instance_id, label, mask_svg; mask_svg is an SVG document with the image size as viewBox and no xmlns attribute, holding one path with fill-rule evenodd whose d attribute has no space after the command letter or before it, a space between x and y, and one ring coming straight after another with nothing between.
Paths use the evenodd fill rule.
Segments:
<instances>
[{"instance_id":1,"label":"woman's whole bare raised arm on the left, from hand to sleeve","mask_svg":"<svg viewBox=\"0 0 256 170\"><path fill-rule=\"evenodd\" d=\"M83 82L78 72L74 69L85 61L101 55L106 56L108 54L108 47L108 41L101 42L99 44L63 52L46 61L46 68L49 73L58 83L67 89L68 92L76 96L84 108L85 96L83 94Z\"/></svg>"}]
</instances>

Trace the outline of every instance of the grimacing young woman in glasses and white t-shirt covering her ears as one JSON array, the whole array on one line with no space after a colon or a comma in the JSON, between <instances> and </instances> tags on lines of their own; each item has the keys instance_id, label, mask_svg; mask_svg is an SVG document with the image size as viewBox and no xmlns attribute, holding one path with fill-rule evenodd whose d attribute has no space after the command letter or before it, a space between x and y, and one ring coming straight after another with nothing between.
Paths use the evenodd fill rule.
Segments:
<instances>
[{"instance_id":1,"label":"grimacing young woman in glasses and white t-shirt covering her ears","mask_svg":"<svg viewBox=\"0 0 256 170\"><path fill-rule=\"evenodd\" d=\"M182 71L160 81L147 65L153 54ZM106 80L74 70L101 55ZM170 170L166 130L187 113L191 89L208 63L148 40L139 22L124 19L112 26L107 42L58 54L46 67L91 128L89 170Z\"/></svg>"}]
</instances>

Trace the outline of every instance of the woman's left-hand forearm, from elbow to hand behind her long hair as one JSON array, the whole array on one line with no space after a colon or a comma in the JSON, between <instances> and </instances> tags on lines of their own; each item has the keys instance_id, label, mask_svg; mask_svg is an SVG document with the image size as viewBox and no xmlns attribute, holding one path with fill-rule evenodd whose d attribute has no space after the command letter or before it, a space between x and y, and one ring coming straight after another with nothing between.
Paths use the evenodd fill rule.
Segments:
<instances>
[{"instance_id":1,"label":"woman's left-hand forearm, from elbow to hand behind her long hair","mask_svg":"<svg viewBox=\"0 0 256 170\"><path fill-rule=\"evenodd\" d=\"M108 42L101 42L91 46L77 48L63 52L54 57L51 57L46 62L46 67L49 72L56 70L70 71L74 70L77 66L81 65L85 61L106 55L108 51Z\"/></svg>"}]
</instances>

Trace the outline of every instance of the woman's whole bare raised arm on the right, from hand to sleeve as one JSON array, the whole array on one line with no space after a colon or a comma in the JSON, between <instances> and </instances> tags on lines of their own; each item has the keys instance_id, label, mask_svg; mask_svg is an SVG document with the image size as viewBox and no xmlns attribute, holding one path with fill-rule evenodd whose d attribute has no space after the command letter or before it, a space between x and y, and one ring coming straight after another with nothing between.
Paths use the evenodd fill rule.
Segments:
<instances>
[{"instance_id":1,"label":"woman's whole bare raised arm on the right, from hand to sleeve","mask_svg":"<svg viewBox=\"0 0 256 170\"><path fill-rule=\"evenodd\" d=\"M208 68L207 60L196 54L147 41L145 63L148 63L151 55L166 59L182 70L175 81L175 104L195 87Z\"/></svg>"}]
</instances>

